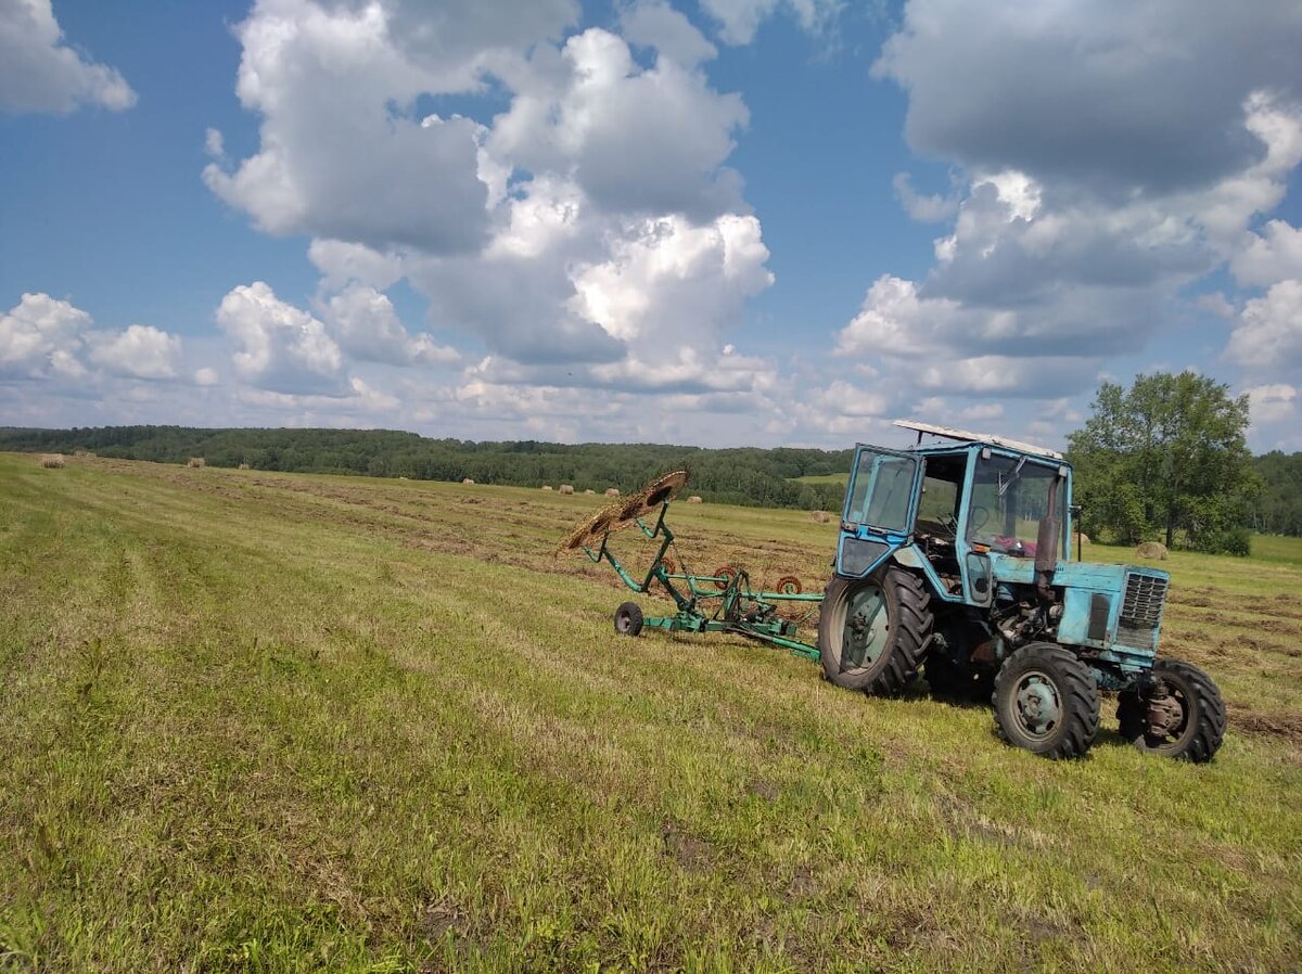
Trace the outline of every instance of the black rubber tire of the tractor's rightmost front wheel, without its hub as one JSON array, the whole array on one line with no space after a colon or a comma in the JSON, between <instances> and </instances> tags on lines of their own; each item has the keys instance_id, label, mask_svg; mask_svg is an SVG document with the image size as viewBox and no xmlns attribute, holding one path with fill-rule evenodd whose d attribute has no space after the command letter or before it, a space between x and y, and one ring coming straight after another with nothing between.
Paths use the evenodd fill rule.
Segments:
<instances>
[{"instance_id":1,"label":"black rubber tire of the tractor's rightmost front wheel, without its hub","mask_svg":"<svg viewBox=\"0 0 1302 974\"><path fill-rule=\"evenodd\" d=\"M1150 734L1144 698L1137 689L1129 689L1122 690L1117 701L1121 736L1150 754L1191 760L1195 764L1211 760L1225 738L1225 702L1216 684L1193 663L1178 659L1154 660L1152 675L1165 682L1177 694L1177 699L1182 699L1185 714L1180 730L1174 740Z\"/></svg>"}]
</instances>

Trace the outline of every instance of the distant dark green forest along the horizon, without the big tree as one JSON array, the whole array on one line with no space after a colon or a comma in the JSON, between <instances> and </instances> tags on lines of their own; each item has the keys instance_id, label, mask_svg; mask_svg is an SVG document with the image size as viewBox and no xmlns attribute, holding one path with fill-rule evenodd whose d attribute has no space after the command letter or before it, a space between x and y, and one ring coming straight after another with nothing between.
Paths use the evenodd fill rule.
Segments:
<instances>
[{"instance_id":1,"label":"distant dark green forest along the horizon, without the big tree","mask_svg":"<svg viewBox=\"0 0 1302 974\"><path fill-rule=\"evenodd\" d=\"M103 457L255 470L366 474L516 487L573 484L631 491L665 470L691 470L691 492L715 503L837 510L850 449L703 449L650 443L475 443L392 430L203 430L184 426L107 426L72 430L0 427L0 449L47 453L90 451ZM1079 464L1078 464L1079 466ZM1302 536L1302 453L1279 451L1251 460L1258 479L1243 527ZM1083 473L1079 471L1078 473Z\"/></svg>"}]
</instances>

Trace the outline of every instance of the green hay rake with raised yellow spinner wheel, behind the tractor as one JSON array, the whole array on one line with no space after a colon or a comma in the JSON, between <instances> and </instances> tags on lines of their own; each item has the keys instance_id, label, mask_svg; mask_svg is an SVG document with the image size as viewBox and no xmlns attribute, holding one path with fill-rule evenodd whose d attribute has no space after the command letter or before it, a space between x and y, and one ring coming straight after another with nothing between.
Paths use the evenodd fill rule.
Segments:
<instances>
[{"instance_id":1,"label":"green hay rake with raised yellow spinner wheel, behind the tractor","mask_svg":"<svg viewBox=\"0 0 1302 974\"><path fill-rule=\"evenodd\" d=\"M779 581L779 591L755 591L745 570L721 568L712 576L678 572L669 557L674 534L665 522L669 504L687 482L686 470L659 477L637 494L611 504L581 523L560 543L557 555L582 551L600 564L608 563L620 579L635 592L650 592L655 585L668 592L677 607L672 616L644 617L635 602L625 602L615 612L615 629L638 635L643 629L682 633L737 633L759 642L781 646L797 656L816 660L819 650L796 638L797 624L779 613L781 603L820 603L823 595L805 595L799 581ZM635 526L650 542L658 542L655 559L638 581L609 547L613 534Z\"/></svg>"}]
</instances>

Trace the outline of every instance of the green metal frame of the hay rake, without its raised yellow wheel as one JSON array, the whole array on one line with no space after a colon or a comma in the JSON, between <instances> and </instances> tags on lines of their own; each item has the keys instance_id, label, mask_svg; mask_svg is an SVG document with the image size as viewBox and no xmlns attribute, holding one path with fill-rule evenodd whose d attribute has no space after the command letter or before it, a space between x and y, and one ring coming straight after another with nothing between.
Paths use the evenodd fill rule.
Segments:
<instances>
[{"instance_id":1,"label":"green metal frame of the hay rake, without its raised yellow wheel","mask_svg":"<svg viewBox=\"0 0 1302 974\"><path fill-rule=\"evenodd\" d=\"M743 570L737 570L733 576L694 576L671 573L664 566L664 556L673 544L673 531L664 522L669 510L669 501L660 507L655 526L648 527L646 521L637 518L638 529L650 540L660 539L660 548L656 552L651 568L647 569L646 578L639 583L628 573L620 560L608 547L611 533L602 535L602 546L594 551L585 546L583 553L600 564L611 563L620 579L635 592L648 592L651 586L659 582L669 592L678 607L677 615L650 617L642 620L643 628L664 629L667 632L682 633L737 633L750 639L767 642L790 650L797 656L818 660L816 646L796 639L797 625L777 616L779 602L823 602L823 595L805 595L789 592L756 592L750 587L750 576ZM680 586L676 586L678 582ZM708 586L708 587L707 587ZM702 602L717 600L719 605L712 615L702 611Z\"/></svg>"}]
</instances>

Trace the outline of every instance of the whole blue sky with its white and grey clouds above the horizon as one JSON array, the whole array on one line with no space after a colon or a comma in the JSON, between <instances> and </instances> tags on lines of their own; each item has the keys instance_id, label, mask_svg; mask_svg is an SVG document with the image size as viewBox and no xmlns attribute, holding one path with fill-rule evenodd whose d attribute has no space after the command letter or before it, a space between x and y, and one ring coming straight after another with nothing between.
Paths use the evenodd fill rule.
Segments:
<instances>
[{"instance_id":1,"label":"whole blue sky with its white and grey clouds above the horizon","mask_svg":"<svg viewBox=\"0 0 1302 974\"><path fill-rule=\"evenodd\" d=\"M1302 13L0 0L0 423L1302 449Z\"/></svg>"}]
</instances>

